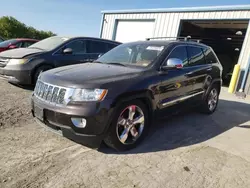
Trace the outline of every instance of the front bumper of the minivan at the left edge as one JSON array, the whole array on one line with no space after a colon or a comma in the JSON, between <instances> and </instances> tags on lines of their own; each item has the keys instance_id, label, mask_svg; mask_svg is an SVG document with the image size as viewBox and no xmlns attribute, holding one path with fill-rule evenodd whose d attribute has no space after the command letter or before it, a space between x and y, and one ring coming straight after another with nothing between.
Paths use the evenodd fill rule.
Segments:
<instances>
[{"instance_id":1,"label":"front bumper of the minivan at the left edge","mask_svg":"<svg viewBox=\"0 0 250 188\"><path fill-rule=\"evenodd\" d=\"M0 67L0 77L15 84L31 84L30 70L23 70L21 66Z\"/></svg>"}]
</instances>

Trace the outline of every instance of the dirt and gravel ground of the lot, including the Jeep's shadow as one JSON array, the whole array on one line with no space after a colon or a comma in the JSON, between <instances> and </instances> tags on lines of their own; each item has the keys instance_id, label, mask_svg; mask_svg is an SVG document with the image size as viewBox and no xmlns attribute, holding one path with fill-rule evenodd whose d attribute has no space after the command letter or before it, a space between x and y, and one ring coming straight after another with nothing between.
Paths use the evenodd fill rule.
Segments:
<instances>
[{"instance_id":1,"label":"dirt and gravel ground of the lot, including the Jeep's shadow","mask_svg":"<svg viewBox=\"0 0 250 188\"><path fill-rule=\"evenodd\" d=\"M250 187L250 100L222 93L212 116L154 125L127 153L78 145L38 126L31 91L0 80L0 187Z\"/></svg>"}]
</instances>

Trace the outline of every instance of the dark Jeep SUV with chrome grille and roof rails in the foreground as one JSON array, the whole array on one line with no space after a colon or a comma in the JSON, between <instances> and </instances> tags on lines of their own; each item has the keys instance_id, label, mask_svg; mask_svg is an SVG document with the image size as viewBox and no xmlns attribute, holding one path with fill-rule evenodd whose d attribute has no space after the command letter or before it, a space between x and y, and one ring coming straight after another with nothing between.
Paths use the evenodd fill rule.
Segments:
<instances>
[{"instance_id":1,"label":"dark Jeep SUV with chrome grille and roof rails in the foreground","mask_svg":"<svg viewBox=\"0 0 250 188\"><path fill-rule=\"evenodd\" d=\"M154 118L183 106L211 114L222 66L211 49L190 41L120 45L97 61L40 75L32 96L39 123L90 147L137 146Z\"/></svg>"}]
</instances>

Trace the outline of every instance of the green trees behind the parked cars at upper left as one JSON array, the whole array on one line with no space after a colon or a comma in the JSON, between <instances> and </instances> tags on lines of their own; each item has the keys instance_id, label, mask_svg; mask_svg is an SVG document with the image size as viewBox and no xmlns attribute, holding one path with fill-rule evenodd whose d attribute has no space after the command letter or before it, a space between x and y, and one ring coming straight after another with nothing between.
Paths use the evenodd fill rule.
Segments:
<instances>
[{"instance_id":1,"label":"green trees behind the parked cars at upper left","mask_svg":"<svg viewBox=\"0 0 250 188\"><path fill-rule=\"evenodd\" d=\"M51 31L37 30L18 21L12 16L3 16L0 18L0 36L4 39L11 38L32 38L45 39L56 35Z\"/></svg>"}]
</instances>

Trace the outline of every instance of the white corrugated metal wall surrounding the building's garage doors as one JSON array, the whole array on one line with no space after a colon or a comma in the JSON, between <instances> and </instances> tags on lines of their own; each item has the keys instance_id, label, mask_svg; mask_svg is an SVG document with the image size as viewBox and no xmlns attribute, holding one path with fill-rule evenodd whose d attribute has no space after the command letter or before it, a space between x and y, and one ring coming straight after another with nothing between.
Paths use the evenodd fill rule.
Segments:
<instances>
[{"instance_id":1,"label":"white corrugated metal wall surrounding the building's garage doors","mask_svg":"<svg viewBox=\"0 0 250 188\"><path fill-rule=\"evenodd\" d=\"M127 13L104 14L102 38L114 39L116 20L155 19L152 37L175 37L178 35L180 21L184 19L250 19L250 11L211 11L211 12L166 12L166 13ZM250 26L248 26L250 28ZM250 29L248 29L239 63L244 69L250 55Z\"/></svg>"}]
</instances>

